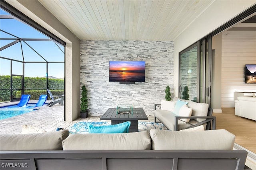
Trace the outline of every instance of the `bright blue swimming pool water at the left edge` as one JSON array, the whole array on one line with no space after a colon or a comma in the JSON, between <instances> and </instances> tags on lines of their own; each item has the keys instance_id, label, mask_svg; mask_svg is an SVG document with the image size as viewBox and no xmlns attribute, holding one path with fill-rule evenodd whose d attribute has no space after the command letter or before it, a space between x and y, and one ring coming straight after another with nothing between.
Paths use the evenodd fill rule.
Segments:
<instances>
[{"instance_id":1,"label":"bright blue swimming pool water at the left edge","mask_svg":"<svg viewBox=\"0 0 256 170\"><path fill-rule=\"evenodd\" d=\"M27 104L27 106L34 106L35 104ZM0 107L0 120L28 113L37 110L38 108L17 107L17 105Z\"/></svg>"}]
</instances>

